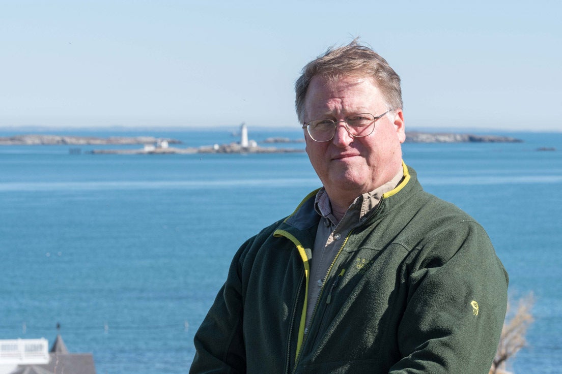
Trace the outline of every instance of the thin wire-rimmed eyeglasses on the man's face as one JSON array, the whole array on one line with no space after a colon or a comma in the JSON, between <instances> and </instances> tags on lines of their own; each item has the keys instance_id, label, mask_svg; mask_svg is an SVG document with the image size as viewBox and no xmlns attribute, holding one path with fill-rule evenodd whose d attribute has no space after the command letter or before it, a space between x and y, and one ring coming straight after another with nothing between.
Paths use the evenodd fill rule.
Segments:
<instances>
[{"instance_id":1,"label":"thin wire-rimmed eyeglasses on the man's face","mask_svg":"<svg viewBox=\"0 0 562 374\"><path fill-rule=\"evenodd\" d=\"M330 141L334 135L336 135L337 124L343 122L346 124L347 132L349 132L351 136L365 137L371 135L373 130L375 130L375 122L377 119L383 117L388 112L390 112L390 110L387 110L377 117L370 113L353 114L353 116L346 117L345 121L316 119L303 124L302 128L306 128L306 131L314 141Z\"/></svg>"}]
</instances>

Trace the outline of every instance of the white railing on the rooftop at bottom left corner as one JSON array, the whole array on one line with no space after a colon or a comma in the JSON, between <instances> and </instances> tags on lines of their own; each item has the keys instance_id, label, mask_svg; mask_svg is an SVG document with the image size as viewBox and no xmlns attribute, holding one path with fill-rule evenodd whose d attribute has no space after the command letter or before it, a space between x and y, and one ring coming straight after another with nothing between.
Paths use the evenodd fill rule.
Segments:
<instances>
[{"instance_id":1,"label":"white railing on the rooftop at bottom left corner","mask_svg":"<svg viewBox=\"0 0 562 374\"><path fill-rule=\"evenodd\" d=\"M48 346L45 338L0 340L0 364L46 364Z\"/></svg>"}]
</instances>

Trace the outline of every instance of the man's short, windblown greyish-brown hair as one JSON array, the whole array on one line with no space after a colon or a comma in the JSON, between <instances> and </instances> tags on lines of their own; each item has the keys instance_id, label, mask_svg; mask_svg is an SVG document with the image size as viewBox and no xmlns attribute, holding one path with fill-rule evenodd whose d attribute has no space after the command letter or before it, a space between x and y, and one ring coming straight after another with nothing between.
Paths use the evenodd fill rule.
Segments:
<instances>
[{"instance_id":1,"label":"man's short, windblown greyish-brown hair","mask_svg":"<svg viewBox=\"0 0 562 374\"><path fill-rule=\"evenodd\" d=\"M294 84L296 99L294 106L297 109L298 121L305 121L305 99L310 81L316 75L337 80L346 75L371 76L375 84L382 91L389 109L402 109L402 90L400 77L392 70L388 62L374 50L360 45L359 38L334 49L329 48L323 55L307 63L302 68L302 75Z\"/></svg>"}]
</instances>

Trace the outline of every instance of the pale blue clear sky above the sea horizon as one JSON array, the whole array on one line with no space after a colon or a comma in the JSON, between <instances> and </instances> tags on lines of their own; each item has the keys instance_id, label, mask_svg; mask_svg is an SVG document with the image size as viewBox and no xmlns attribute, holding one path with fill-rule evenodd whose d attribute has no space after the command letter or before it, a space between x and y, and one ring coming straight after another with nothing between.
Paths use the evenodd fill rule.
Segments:
<instances>
[{"instance_id":1,"label":"pale blue clear sky above the sea horizon","mask_svg":"<svg viewBox=\"0 0 562 374\"><path fill-rule=\"evenodd\" d=\"M0 0L0 127L298 127L293 84L355 36L406 128L562 130L560 1Z\"/></svg>"}]
</instances>

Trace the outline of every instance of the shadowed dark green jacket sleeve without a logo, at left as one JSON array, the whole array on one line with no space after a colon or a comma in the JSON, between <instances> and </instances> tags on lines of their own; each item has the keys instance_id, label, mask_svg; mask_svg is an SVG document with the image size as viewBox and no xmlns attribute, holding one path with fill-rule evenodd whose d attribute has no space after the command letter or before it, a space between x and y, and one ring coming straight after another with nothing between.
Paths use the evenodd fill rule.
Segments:
<instances>
[{"instance_id":1,"label":"shadowed dark green jacket sleeve without a logo, at left","mask_svg":"<svg viewBox=\"0 0 562 374\"><path fill-rule=\"evenodd\" d=\"M246 372L242 333L241 263L248 240L234 256L228 276L194 338L196 354L190 374Z\"/></svg>"}]
</instances>

